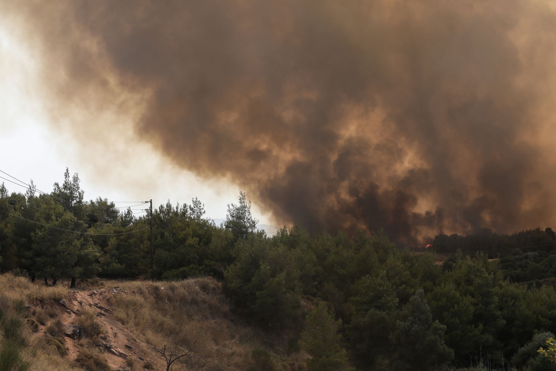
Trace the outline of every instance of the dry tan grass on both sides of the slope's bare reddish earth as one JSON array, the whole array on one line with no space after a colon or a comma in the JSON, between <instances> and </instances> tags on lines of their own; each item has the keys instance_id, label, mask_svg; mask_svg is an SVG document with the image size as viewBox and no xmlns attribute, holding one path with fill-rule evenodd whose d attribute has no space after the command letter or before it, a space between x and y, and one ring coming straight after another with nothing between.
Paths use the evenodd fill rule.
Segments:
<instances>
[{"instance_id":1,"label":"dry tan grass on both sides of the slope's bare reddish earth","mask_svg":"<svg viewBox=\"0 0 556 371\"><path fill-rule=\"evenodd\" d=\"M183 347L196 346L197 357L212 360L212 365L218 365L227 371L247 370L255 363L251 357L252 351L261 348L271 354L277 370L304 369L306 354L288 354L286 335L283 339L269 337L260 329L242 324L239 318L230 313L230 304L221 292L220 283L214 279L196 278L155 283L93 280L86 284L91 290L119 287L120 292L110 295L108 299L113 311L111 315L125 324L129 332L141 334L152 347L172 343ZM0 315L3 308L9 307L6 303L17 302L16 311L22 311L20 316L29 316L33 319L33 324L46 324L47 332L51 333L48 341L44 341L42 332L31 338L32 349L36 352L29 356L32 360L31 370L104 369L105 365L97 362L98 357L91 343L100 335L101 329L92 309L83 308L75 320L75 324L81 325L87 336L87 339L80 342L80 362L69 363L67 358L61 358L66 349L61 334L61 321L57 320L60 312L57 301L64 297L68 300L66 283L46 287L42 281L31 283L26 278L3 274L0 275L0 288ZM27 303L32 305L31 310L25 308ZM31 334L29 326L24 327L26 333ZM41 334L40 340L37 334ZM87 346L87 342L91 343L88 344L90 346ZM154 356L153 353L152 357ZM130 358L127 362L132 363L133 359ZM139 364L127 364L127 367L155 368L152 359Z\"/></svg>"}]
</instances>

